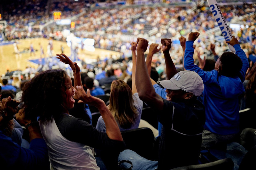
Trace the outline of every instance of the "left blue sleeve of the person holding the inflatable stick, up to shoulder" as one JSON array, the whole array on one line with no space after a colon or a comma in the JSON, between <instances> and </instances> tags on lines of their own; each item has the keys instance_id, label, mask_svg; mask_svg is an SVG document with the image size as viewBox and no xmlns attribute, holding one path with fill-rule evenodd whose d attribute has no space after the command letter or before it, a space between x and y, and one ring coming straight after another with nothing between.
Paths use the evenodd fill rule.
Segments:
<instances>
[{"instance_id":1,"label":"left blue sleeve of the person holding the inflatable stick, up to shoulder","mask_svg":"<svg viewBox=\"0 0 256 170\"><path fill-rule=\"evenodd\" d=\"M204 71L194 64L193 54L193 41L186 42L185 56L184 56L184 67L186 70L195 71L203 79L204 83L211 83L215 78L216 71Z\"/></svg>"}]
</instances>

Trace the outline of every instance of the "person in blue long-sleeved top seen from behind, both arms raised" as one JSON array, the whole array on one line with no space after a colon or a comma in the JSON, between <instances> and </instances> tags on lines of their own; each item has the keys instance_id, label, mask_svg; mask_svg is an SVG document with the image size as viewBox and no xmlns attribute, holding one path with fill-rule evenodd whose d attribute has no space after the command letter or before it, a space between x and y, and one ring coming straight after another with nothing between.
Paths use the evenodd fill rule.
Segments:
<instances>
[{"instance_id":1,"label":"person in blue long-sleeved top seen from behind, both arms raised","mask_svg":"<svg viewBox=\"0 0 256 170\"><path fill-rule=\"evenodd\" d=\"M193 43L199 33L190 33L186 42L184 67L197 72L204 82L203 104L206 122L202 137L203 147L226 147L239 132L238 96L244 92L243 81L249 67L248 59L233 37L227 43L236 54L224 52L215 64L215 70L203 71L194 64Z\"/></svg>"}]
</instances>

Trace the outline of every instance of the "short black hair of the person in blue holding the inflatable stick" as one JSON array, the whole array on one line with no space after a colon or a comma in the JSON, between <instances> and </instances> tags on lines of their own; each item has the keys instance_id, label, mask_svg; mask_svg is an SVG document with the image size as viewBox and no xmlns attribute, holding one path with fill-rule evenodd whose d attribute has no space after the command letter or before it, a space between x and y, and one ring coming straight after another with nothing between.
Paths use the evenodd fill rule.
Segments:
<instances>
[{"instance_id":1,"label":"short black hair of the person in blue holding the inflatable stick","mask_svg":"<svg viewBox=\"0 0 256 170\"><path fill-rule=\"evenodd\" d=\"M223 54L220 56L220 62L222 65L221 75L227 77L238 76L243 66L241 58L230 51L223 52Z\"/></svg>"}]
</instances>

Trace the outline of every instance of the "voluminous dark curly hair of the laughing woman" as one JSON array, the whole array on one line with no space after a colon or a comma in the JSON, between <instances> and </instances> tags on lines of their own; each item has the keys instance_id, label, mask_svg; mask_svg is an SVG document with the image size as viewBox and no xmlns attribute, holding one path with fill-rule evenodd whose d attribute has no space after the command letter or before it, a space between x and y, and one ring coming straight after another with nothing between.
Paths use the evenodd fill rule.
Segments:
<instances>
[{"instance_id":1,"label":"voluminous dark curly hair of the laughing woman","mask_svg":"<svg viewBox=\"0 0 256 170\"><path fill-rule=\"evenodd\" d=\"M67 73L62 70L46 70L29 80L23 87L21 101L26 117L52 121L60 114L63 102L62 90L66 90Z\"/></svg>"}]
</instances>

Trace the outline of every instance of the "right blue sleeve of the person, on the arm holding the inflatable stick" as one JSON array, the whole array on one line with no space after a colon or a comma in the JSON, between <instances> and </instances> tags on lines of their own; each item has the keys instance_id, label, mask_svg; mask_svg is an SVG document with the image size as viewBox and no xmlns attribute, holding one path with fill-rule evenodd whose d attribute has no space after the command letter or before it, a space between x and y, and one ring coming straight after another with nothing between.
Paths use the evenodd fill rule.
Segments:
<instances>
[{"instance_id":1,"label":"right blue sleeve of the person, on the arm holding the inflatable stick","mask_svg":"<svg viewBox=\"0 0 256 170\"><path fill-rule=\"evenodd\" d=\"M244 82L246 71L249 68L248 58L246 57L246 54L245 54L244 50L240 47L239 44L235 44L234 48L236 50L236 55L238 55L241 58L242 62L243 62L243 66L242 66L242 69L240 71L239 78L241 79L242 82Z\"/></svg>"}]
</instances>

